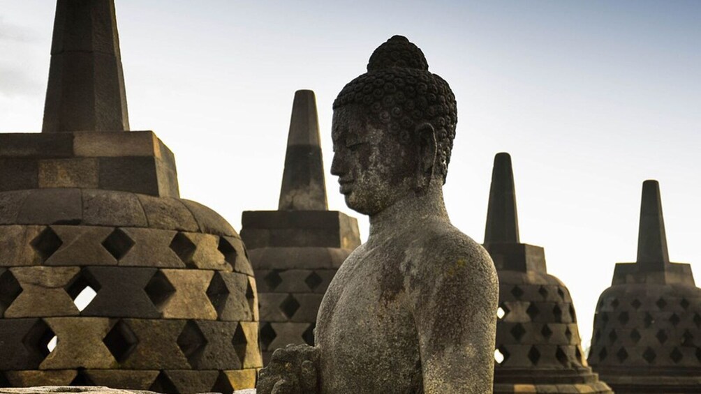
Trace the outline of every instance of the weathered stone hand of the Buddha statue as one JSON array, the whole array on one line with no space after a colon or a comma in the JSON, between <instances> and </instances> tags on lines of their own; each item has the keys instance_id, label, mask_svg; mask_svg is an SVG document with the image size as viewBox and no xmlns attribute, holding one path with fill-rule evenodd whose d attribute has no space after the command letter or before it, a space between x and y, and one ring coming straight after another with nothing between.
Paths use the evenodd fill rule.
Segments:
<instances>
[{"instance_id":1,"label":"weathered stone hand of the Buddha statue","mask_svg":"<svg viewBox=\"0 0 701 394\"><path fill-rule=\"evenodd\" d=\"M258 394L318 393L319 349L308 345L287 345L278 349L258 376Z\"/></svg>"}]
</instances>

